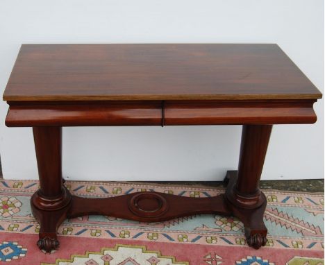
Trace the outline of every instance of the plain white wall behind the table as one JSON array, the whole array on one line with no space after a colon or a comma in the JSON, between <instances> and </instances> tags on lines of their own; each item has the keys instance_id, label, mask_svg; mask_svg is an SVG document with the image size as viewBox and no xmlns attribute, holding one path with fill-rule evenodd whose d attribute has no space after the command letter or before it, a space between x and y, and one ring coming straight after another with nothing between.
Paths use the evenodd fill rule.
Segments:
<instances>
[{"instance_id":1,"label":"plain white wall behind the table","mask_svg":"<svg viewBox=\"0 0 325 265\"><path fill-rule=\"evenodd\" d=\"M22 43L277 43L324 91L323 0L1 0L0 87ZM6 128L4 178L37 178L31 128ZM275 126L263 179L324 178L324 100L314 125ZM64 128L74 180L222 180L238 165L240 126Z\"/></svg>"}]
</instances>

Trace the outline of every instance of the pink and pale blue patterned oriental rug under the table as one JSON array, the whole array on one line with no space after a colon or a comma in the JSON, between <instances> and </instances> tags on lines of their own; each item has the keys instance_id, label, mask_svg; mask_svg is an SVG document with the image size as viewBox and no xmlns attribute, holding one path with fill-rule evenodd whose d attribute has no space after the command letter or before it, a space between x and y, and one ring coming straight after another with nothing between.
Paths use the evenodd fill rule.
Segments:
<instances>
[{"instance_id":1,"label":"pink and pale blue patterned oriental rug under the table","mask_svg":"<svg viewBox=\"0 0 325 265\"><path fill-rule=\"evenodd\" d=\"M78 196L118 196L160 191L209 197L224 189L130 182L66 182ZM33 180L0 181L0 264L56 265L319 265L324 264L324 194L265 190L267 246L254 250L237 219L195 215L160 223L83 216L60 226L60 248L38 250L39 225L29 199Z\"/></svg>"}]
</instances>

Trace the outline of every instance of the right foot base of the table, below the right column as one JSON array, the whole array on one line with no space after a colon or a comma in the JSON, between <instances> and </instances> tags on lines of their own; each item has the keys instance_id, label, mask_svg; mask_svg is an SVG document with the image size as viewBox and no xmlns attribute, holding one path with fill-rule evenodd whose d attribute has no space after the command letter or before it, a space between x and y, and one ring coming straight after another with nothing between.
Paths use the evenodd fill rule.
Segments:
<instances>
[{"instance_id":1,"label":"right foot base of the table, below the right column","mask_svg":"<svg viewBox=\"0 0 325 265\"><path fill-rule=\"evenodd\" d=\"M253 207L247 204L246 200L235 200L234 187L237 180L237 171L228 171L226 178L228 186L226 189L226 205L231 210L233 216L236 216L244 223L245 237L247 244L253 248L260 248L267 243L267 228L263 221L263 214L267 205L267 200L263 192L260 192L256 205ZM244 202L240 204L240 202Z\"/></svg>"}]
</instances>

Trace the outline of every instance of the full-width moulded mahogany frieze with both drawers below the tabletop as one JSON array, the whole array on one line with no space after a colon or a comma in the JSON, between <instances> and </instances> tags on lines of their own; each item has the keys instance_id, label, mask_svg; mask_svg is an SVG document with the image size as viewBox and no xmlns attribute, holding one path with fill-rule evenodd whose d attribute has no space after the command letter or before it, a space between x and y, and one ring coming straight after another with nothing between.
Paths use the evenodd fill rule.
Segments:
<instances>
[{"instance_id":1,"label":"full-width moulded mahogany frieze with both drawers below the tabletop","mask_svg":"<svg viewBox=\"0 0 325 265\"><path fill-rule=\"evenodd\" d=\"M315 123L317 117L313 110L314 102L313 100L10 102L6 126Z\"/></svg>"}]
</instances>

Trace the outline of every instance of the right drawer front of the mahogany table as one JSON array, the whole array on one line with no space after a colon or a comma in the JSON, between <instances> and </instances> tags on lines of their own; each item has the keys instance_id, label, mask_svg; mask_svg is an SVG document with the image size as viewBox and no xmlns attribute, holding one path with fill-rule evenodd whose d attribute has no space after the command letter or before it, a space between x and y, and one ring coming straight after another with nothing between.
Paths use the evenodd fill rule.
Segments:
<instances>
[{"instance_id":1,"label":"right drawer front of the mahogany table","mask_svg":"<svg viewBox=\"0 0 325 265\"><path fill-rule=\"evenodd\" d=\"M315 101L166 101L168 125L315 123Z\"/></svg>"}]
</instances>

